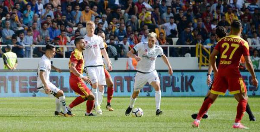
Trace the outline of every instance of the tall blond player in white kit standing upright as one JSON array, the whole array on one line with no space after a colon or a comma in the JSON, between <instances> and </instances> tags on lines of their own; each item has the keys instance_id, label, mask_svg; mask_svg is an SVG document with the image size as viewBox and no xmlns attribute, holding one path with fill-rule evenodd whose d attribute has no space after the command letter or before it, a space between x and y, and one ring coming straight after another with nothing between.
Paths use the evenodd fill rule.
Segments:
<instances>
[{"instance_id":1,"label":"tall blond player in white kit standing upright","mask_svg":"<svg viewBox=\"0 0 260 132\"><path fill-rule=\"evenodd\" d=\"M84 41L86 44L86 48L83 51L83 57L85 61L84 69L86 69L85 71L88 73L92 83L91 92L95 96L95 110L97 114L102 115L100 103L104 95L104 85L106 85L102 54L108 64L109 71L112 70L112 66L110 59L108 58L108 53L106 49L104 49L103 39L100 36L94 34L95 23L92 21L87 22L86 29L88 34L84 36Z\"/></svg>"}]
</instances>

